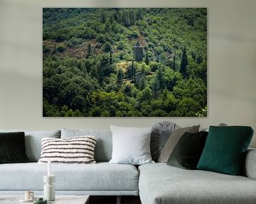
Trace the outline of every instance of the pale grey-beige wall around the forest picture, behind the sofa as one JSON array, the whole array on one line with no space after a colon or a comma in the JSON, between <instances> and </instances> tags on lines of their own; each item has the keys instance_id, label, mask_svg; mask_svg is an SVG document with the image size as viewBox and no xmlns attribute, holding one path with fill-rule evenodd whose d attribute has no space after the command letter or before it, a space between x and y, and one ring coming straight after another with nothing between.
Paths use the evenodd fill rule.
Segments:
<instances>
[{"instance_id":1,"label":"pale grey-beige wall around the forest picture, behind the sofa","mask_svg":"<svg viewBox=\"0 0 256 204\"><path fill-rule=\"evenodd\" d=\"M43 118L43 7L207 7L207 118ZM0 129L101 129L149 126L250 125L256 132L255 0L0 0ZM256 133L251 144L256 147Z\"/></svg>"}]
</instances>

